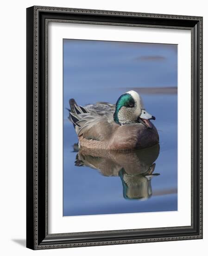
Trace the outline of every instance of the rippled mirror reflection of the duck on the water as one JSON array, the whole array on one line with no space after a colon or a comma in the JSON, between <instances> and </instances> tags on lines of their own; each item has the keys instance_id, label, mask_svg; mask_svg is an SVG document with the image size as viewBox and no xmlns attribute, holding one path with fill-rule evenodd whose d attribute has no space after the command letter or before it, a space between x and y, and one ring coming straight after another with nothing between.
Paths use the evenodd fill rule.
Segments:
<instances>
[{"instance_id":1,"label":"rippled mirror reflection of the duck on the water","mask_svg":"<svg viewBox=\"0 0 208 256\"><path fill-rule=\"evenodd\" d=\"M159 155L159 144L150 148L114 151L74 146L76 166L97 169L104 176L119 176L126 199L148 199L152 195L151 179L159 175L153 173L154 163Z\"/></svg>"}]
</instances>

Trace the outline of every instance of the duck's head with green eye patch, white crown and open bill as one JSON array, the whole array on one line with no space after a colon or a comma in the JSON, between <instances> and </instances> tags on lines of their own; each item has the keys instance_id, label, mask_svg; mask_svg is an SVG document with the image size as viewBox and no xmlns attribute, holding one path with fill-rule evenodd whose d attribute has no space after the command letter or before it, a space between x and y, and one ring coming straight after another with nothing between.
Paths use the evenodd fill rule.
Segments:
<instances>
[{"instance_id":1,"label":"duck's head with green eye patch, white crown and open bill","mask_svg":"<svg viewBox=\"0 0 208 256\"><path fill-rule=\"evenodd\" d=\"M155 117L145 110L141 96L135 91L122 94L116 102L113 120L120 125L139 122L151 129L151 119Z\"/></svg>"}]
</instances>

